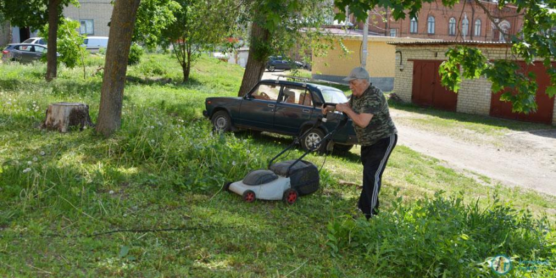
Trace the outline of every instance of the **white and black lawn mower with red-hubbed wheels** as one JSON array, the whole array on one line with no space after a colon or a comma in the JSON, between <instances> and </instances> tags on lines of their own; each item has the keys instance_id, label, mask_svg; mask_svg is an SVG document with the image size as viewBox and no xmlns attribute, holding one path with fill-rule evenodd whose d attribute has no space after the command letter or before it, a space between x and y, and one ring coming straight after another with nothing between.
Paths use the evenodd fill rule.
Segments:
<instances>
[{"instance_id":1,"label":"white and black lawn mower with red-hubbed wheels","mask_svg":"<svg viewBox=\"0 0 556 278\"><path fill-rule=\"evenodd\" d=\"M335 104L325 104L325 106L327 105L335 106ZM338 124L322 140L306 150L300 158L274 163L282 154L301 142L309 131L329 120L338 120ZM347 115L345 113L330 112L326 117L319 116L310 129L295 138L288 147L270 160L268 169L254 170L241 181L225 183L223 189L241 195L245 202L254 202L255 199L282 199L286 204L295 203L297 197L311 194L320 186L318 168L313 163L304 161L303 158L318 149L320 144L327 142L327 139L345 126L346 122Z\"/></svg>"}]
</instances>

